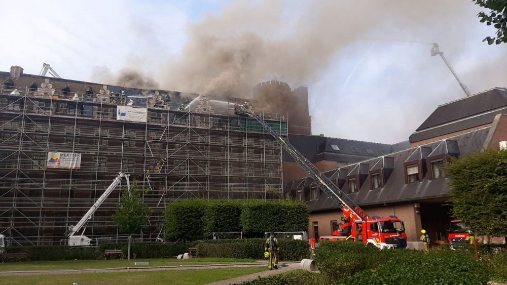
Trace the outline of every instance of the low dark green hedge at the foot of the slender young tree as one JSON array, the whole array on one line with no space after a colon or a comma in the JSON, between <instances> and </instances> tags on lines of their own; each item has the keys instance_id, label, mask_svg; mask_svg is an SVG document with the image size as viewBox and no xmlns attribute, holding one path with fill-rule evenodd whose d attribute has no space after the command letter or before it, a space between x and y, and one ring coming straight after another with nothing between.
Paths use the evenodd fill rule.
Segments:
<instances>
[{"instance_id":1,"label":"low dark green hedge at the foot of the slender young tree","mask_svg":"<svg viewBox=\"0 0 507 285\"><path fill-rule=\"evenodd\" d=\"M139 242L130 243L130 254L135 258L172 258L188 252L189 246L184 243ZM106 250L122 250L127 256L128 243L104 243L100 253Z\"/></svg>"}]
</instances>

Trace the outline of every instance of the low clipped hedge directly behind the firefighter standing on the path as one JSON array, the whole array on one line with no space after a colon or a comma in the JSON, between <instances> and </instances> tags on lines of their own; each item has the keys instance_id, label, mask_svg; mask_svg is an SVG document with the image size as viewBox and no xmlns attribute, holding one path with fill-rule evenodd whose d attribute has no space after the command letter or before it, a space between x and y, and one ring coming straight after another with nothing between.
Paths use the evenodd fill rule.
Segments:
<instances>
[{"instance_id":1,"label":"low clipped hedge directly behind the firefighter standing on the path","mask_svg":"<svg viewBox=\"0 0 507 285\"><path fill-rule=\"evenodd\" d=\"M264 259L264 238L203 240L197 243L199 257ZM308 241L280 239L280 260L301 260L310 255Z\"/></svg>"}]
</instances>

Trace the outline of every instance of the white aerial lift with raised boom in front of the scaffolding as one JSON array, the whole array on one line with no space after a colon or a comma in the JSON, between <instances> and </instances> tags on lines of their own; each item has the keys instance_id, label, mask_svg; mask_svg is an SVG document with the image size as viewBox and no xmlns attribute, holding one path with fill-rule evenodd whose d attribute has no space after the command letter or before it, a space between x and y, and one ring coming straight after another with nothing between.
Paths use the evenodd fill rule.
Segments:
<instances>
[{"instance_id":1,"label":"white aerial lift with raised boom in front of the scaffolding","mask_svg":"<svg viewBox=\"0 0 507 285\"><path fill-rule=\"evenodd\" d=\"M130 181L129 181L129 175L125 173L119 173L118 176L113 180L113 183L107 187L107 189L104 191L104 193L97 199L97 201L93 204L93 206L86 212L86 214L81 218L81 220L75 225L75 226L69 226L68 233L67 233L67 239L68 239L68 245L71 247L86 247L90 246L92 244L92 239L85 236L85 229L86 224L91 220L93 217L93 214L97 209L102 205L104 200L113 192L113 190L120 184L122 181L122 178L125 178L127 181L127 190L130 191ZM81 232L81 235L76 235L81 229L83 231Z\"/></svg>"}]
</instances>

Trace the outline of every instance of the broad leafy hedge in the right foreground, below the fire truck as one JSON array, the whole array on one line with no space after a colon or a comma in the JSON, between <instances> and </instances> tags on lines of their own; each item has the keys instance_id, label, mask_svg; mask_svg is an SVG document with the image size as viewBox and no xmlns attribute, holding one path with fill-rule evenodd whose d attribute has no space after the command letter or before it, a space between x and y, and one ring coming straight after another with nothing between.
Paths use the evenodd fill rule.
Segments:
<instances>
[{"instance_id":1,"label":"broad leafy hedge in the right foreground, below the fire truck","mask_svg":"<svg viewBox=\"0 0 507 285\"><path fill-rule=\"evenodd\" d=\"M368 248L354 242L321 242L317 267L339 284L486 284L483 261L469 252Z\"/></svg>"}]
</instances>

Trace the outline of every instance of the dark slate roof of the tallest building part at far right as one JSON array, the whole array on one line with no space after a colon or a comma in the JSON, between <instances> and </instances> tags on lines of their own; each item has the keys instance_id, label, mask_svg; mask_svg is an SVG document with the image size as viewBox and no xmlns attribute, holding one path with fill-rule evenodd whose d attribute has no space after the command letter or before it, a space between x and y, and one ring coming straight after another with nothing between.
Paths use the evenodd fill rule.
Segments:
<instances>
[{"instance_id":1,"label":"dark slate roof of the tallest building part at far right","mask_svg":"<svg viewBox=\"0 0 507 285\"><path fill-rule=\"evenodd\" d=\"M507 89L491 90L440 105L409 137L421 141L490 124L495 115L507 112Z\"/></svg>"}]
</instances>

